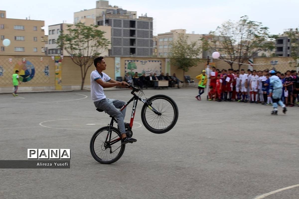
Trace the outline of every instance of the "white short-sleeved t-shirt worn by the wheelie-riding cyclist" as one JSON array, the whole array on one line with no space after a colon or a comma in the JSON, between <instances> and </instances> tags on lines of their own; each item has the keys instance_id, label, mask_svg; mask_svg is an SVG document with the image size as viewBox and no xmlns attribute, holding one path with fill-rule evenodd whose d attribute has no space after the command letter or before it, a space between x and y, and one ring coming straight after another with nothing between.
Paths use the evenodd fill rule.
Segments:
<instances>
[{"instance_id":1,"label":"white short-sleeved t-shirt worn by the wheelie-riding cyclist","mask_svg":"<svg viewBox=\"0 0 299 199\"><path fill-rule=\"evenodd\" d=\"M90 94L91 94L91 99L94 102L106 98L103 87L99 85L95 80L102 79L103 82L108 82L111 78L103 72L102 75L100 75L97 70L92 71L90 74Z\"/></svg>"}]
</instances>

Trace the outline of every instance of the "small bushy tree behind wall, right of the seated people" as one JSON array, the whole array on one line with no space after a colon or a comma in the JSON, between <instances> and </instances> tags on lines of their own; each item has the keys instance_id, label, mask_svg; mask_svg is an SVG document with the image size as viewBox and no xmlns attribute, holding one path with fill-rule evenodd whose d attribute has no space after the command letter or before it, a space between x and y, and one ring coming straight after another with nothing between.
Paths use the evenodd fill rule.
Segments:
<instances>
[{"instance_id":1,"label":"small bushy tree behind wall, right of the seated people","mask_svg":"<svg viewBox=\"0 0 299 199\"><path fill-rule=\"evenodd\" d=\"M171 45L170 63L183 70L183 75L200 61L196 57L201 53L202 47L196 41L188 42L188 36L180 33Z\"/></svg>"}]
</instances>

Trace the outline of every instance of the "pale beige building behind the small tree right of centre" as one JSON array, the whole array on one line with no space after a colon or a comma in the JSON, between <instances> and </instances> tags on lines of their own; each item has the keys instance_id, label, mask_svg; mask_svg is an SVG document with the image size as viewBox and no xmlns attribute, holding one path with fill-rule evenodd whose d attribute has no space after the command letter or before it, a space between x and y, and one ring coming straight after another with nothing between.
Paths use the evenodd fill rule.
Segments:
<instances>
[{"instance_id":1,"label":"pale beige building behind the small tree right of centre","mask_svg":"<svg viewBox=\"0 0 299 199\"><path fill-rule=\"evenodd\" d=\"M172 42L175 41L179 34L184 34L185 36L188 36L188 43L189 42L197 42L198 45L201 45L201 39L202 35L201 34L195 34L194 32L186 33L185 29L175 29L175 30L170 30L170 32L167 33L160 33L158 34L156 38L156 49L157 49L157 56L158 57L167 57L169 56L169 53L172 48ZM202 58L202 53L197 56L197 58Z\"/></svg>"}]
</instances>

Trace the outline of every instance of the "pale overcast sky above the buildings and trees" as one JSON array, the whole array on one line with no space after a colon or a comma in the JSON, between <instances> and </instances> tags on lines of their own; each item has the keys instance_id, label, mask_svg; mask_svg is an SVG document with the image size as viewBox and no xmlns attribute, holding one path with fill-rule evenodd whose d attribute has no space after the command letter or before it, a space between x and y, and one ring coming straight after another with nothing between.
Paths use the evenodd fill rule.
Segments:
<instances>
[{"instance_id":1,"label":"pale overcast sky above the buildings and trees","mask_svg":"<svg viewBox=\"0 0 299 199\"><path fill-rule=\"evenodd\" d=\"M7 18L44 20L48 25L74 22L74 12L95 8L95 0L2 0L0 10L7 11ZM147 13L154 18L154 35L173 29L186 29L205 34L215 30L222 22L239 20L248 15L250 20L262 22L270 33L282 33L283 29L299 26L299 0L212 0L212 1L162 1L162 0L111 0L125 10L137 11L138 16ZM1 22L1 18L0 18Z\"/></svg>"}]
</instances>

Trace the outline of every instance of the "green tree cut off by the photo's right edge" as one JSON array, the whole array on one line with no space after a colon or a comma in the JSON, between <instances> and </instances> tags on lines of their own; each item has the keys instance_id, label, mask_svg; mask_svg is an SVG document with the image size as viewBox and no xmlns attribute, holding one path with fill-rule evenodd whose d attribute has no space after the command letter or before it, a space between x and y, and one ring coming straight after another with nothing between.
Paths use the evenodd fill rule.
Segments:
<instances>
[{"instance_id":1,"label":"green tree cut off by the photo's right edge","mask_svg":"<svg viewBox=\"0 0 299 199\"><path fill-rule=\"evenodd\" d=\"M290 29L286 32L290 39L291 57L296 61L296 67L299 66L299 30L298 28Z\"/></svg>"}]
</instances>

